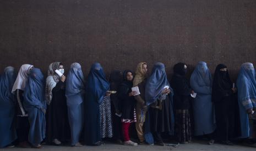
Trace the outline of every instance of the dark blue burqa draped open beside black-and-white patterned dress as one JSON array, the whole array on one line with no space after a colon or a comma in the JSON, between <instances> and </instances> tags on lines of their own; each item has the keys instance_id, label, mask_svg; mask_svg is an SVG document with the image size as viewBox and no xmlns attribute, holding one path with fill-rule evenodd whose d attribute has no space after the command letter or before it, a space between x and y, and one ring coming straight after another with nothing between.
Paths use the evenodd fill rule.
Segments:
<instances>
[{"instance_id":1,"label":"dark blue burqa draped open beside black-and-white patterned dress","mask_svg":"<svg viewBox=\"0 0 256 151\"><path fill-rule=\"evenodd\" d=\"M85 95L85 143L91 146L100 146L101 125L100 125L100 104L105 96L110 94L110 84L106 80L105 73L100 63L91 66L88 79L86 80Z\"/></svg>"}]
</instances>

